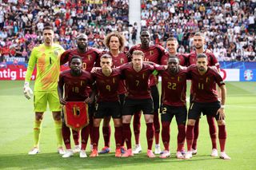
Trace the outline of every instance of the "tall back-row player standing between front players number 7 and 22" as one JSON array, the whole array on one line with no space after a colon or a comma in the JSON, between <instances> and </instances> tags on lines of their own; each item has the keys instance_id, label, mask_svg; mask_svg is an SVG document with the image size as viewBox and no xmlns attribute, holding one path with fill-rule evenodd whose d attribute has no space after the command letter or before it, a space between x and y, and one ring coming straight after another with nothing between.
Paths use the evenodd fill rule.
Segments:
<instances>
[{"instance_id":1,"label":"tall back-row player standing between front players number 7 and 22","mask_svg":"<svg viewBox=\"0 0 256 170\"><path fill-rule=\"evenodd\" d=\"M165 49L160 45L150 45L150 32L148 30L142 30L141 33L142 44L134 45L129 50L129 55L131 55L134 50L141 50L145 55L145 61L151 61L156 64L160 64L161 58L168 55ZM159 144L159 133L160 133L160 123L158 118L159 109L159 93L158 93L158 77L150 76L150 89L154 101L154 137L155 137L155 152L159 154L161 152ZM135 136L135 148L134 153L142 152L142 147L139 144L139 134L140 134L140 112L134 114L134 136Z\"/></svg>"}]
</instances>

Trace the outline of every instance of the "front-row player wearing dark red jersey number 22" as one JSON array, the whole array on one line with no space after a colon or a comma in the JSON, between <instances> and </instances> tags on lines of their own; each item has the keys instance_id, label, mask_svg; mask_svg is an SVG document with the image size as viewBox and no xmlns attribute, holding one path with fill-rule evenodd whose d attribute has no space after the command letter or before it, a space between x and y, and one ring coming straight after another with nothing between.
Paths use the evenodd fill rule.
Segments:
<instances>
[{"instance_id":1,"label":"front-row player wearing dark red jersey number 22","mask_svg":"<svg viewBox=\"0 0 256 170\"><path fill-rule=\"evenodd\" d=\"M163 69L162 66L156 67L162 77L162 143L165 150L161 154L161 158L170 156L170 122L176 117L178 125L178 148L176 157L181 159L184 141L186 137L186 67L179 65L178 57L170 57L168 60L168 68Z\"/></svg>"}]
</instances>

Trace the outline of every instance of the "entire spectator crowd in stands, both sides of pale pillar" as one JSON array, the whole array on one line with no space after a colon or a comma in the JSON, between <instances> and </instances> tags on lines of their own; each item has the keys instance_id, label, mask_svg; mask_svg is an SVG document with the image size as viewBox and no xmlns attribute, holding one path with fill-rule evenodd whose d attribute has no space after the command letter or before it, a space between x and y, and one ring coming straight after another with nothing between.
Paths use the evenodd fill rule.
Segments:
<instances>
[{"instance_id":1,"label":"entire spectator crowd in stands, both sides of pale pillar","mask_svg":"<svg viewBox=\"0 0 256 170\"><path fill-rule=\"evenodd\" d=\"M105 49L106 34L122 32L131 44L138 25L129 31L129 0L0 0L0 61L24 57L42 42L44 22L54 24L55 41L65 49L85 33L88 44ZM256 61L256 1L141 0L141 26L150 30L154 44L165 46L178 38L179 53L190 53L193 35L206 35L206 48L219 61ZM137 36L136 36L137 35Z\"/></svg>"}]
</instances>

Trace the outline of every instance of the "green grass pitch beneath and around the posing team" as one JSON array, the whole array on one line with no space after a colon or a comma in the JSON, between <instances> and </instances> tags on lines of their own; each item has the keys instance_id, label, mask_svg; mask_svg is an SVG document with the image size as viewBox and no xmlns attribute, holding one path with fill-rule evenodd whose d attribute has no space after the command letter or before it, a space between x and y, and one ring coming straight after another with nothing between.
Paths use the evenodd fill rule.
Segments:
<instances>
[{"instance_id":1,"label":"green grass pitch beneath and around the posing team","mask_svg":"<svg viewBox=\"0 0 256 170\"><path fill-rule=\"evenodd\" d=\"M145 124L142 121L142 153L132 158L115 158L114 152L97 158L79 158L78 154L63 159L57 154L54 124L50 112L42 124L40 153L29 156L33 145L33 102L22 94L23 81L0 81L0 169L256 169L256 82L227 82L226 152L232 160L210 157L211 144L206 117L202 117L198 155L191 160L174 158L177 126L171 125L169 159L146 157ZM111 122L111 124L113 124ZM134 139L132 140L134 144ZM99 148L103 146L102 134ZM111 148L114 151L114 128ZM161 148L162 142L161 142ZM218 149L219 150L219 149ZM90 154L87 146L87 155Z\"/></svg>"}]
</instances>

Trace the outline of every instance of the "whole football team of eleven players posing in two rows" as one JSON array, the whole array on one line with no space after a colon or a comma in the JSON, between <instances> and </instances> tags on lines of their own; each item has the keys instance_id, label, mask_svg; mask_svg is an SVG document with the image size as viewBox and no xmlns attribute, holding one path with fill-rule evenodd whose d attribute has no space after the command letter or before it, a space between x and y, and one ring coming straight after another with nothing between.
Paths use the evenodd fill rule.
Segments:
<instances>
[{"instance_id":1,"label":"whole football team of eleven players posing in two rows","mask_svg":"<svg viewBox=\"0 0 256 170\"><path fill-rule=\"evenodd\" d=\"M218 61L212 53L203 50L204 38L202 34L195 34L194 47L196 50L190 54L176 53L178 42L175 38L170 38L167 41L168 52L162 46L149 45L150 34L147 30L143 30L141 33L142 44L134 45L129 53L122 53L125 39L118 33L111 33L106 36L105 43L110 51L102 53L97 49L87 47L84 34L78 35L78 48L68 49L64 53L60 45L53 43L54 33L50 26L46 26L44 29L43 37L44 43L32 50L24 85L24 94L27 98L30 98L32 94L29 85L30 77L35 64L37 64L38 73L34 85L34 148L29 152L30 155L39 152L38 144L42 116L46 111L48 102L55 121L58 152L64 154L63 157L72 156L70 128L66 127L65 123L62 124L60 112L62 106L59 103L66 105L69 101L86 101L86 103L91 105L90 103L93 101L94 95L96 95L98 104L96 112L92 111L92 109L89 111L90 116L94 117L90 117L90 125L82 128L81 131L80 157L86 157L85 150L89 135L90 144L93 145L90 156L98 156L98 127L102 118L104 118L103 135L105 147L101 152L109 152L110 116L114 120L115 156L127 157L141 152L139 144L139 117L141 111L143 111L146 121L147 156L154 157L155 155L152 152L154 139L156 143L155 153L161 152L159 145L158 78L156 78L158 75L155 75L160 74L162 76L162 107L160 109L162 113L162 142L165 148L160 157L166 158L170 156L169 127L174 115L178 121L178 149L176 156L178 158L190 159L192 153L197 152L198 117L203 113L207 115L210 127L210 136L213 144L211 155L218 156L216 127L214 124L215 117L219 128L220 157L226 160L230 159L225 152L226 126L224 121L224 104L226 88L218 71L207 66L215 65L218 69ZM59 76L59 65L66 63L66 61L69 61L70 69L62 72ZM150 61L148 62L150 64L145 64L145 61ZM186 69L186 67L180 65L191 66ZM94 66L101 66L102 69L91 70ZM158 70L158 72L154 70ZM154 75L151 74L153 71ZM187 125L186 79L191 79L192 81L190 92L191 105ZM124 85L123 80L125 80L126 85ZM95 88L92 87L93 81L96 81ZM218 101L216 83L220 86L222 92L221 101ZM87 89L88 85L96 91ZM124 97L124 94L126 97ZM123 101L123 104L121 105L119 101ZM134 136L136 140L134 150L131 149L130 141L130 121L132 115L134 115ZM73 130L76 146L79 144L78 134L79 132ZM66 152L62 148L62 137L66 145ZM186 153L184 152L185 137L188 147ZM121 154L124 150L123 145L125 142L127 150Z\"/></svg>"}]
</instances>

